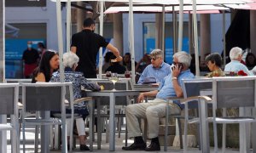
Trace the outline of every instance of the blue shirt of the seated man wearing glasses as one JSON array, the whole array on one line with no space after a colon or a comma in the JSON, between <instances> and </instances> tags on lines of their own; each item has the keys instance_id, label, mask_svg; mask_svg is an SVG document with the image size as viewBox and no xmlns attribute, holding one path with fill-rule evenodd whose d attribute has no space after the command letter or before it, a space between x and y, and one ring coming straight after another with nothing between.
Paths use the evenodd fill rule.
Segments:
<instances>
[{"instance_id":1,"label":"blue shirt of the seated man wearing glasses","mask_svg":"<svg viewBox=\"0 0 256 153\"><path fill-rule=\"evenodd\" d=\"M170 65L165 62L163 62L159 68L155 68L151 64L144 69L143 74L141 75L137 83L142 84L146 77L154 77L156 79L156 82L161 82L164 77L168 76L170 73Z\"/></svg>"}]
</instances>

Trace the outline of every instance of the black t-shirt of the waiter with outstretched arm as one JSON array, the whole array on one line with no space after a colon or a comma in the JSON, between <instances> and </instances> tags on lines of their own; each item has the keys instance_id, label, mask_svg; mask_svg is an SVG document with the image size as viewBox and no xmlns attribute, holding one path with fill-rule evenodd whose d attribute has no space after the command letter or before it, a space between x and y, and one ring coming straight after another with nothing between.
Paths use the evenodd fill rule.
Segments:
<instances>
[{"instance_id":1,"label":"black t-shirt of the waiter with outstretched arm","mask_svg":"<svg viewBox=\"0 0 256 153\"><path fill-rule=\"evenodd\" d=\"M82 71L86 78L96 78L96 55L99 48L108 46L105 38L90 30L84 30L73 35L71 46L77 48L76 54L79 56L76 71Z\"/></svg>"}]
</instances>

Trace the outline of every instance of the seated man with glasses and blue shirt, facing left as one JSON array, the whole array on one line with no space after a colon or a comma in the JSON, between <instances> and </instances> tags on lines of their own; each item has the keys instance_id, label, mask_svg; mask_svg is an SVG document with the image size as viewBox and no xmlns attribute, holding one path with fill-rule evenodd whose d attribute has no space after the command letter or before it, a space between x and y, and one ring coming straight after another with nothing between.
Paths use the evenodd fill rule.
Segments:
<instances>
[{"instance_id":1,"label":"seated man with glasses and blue shirt, facing left","mask_svg":"<svg viewBox=\"0 0 256 153\"><path fill-rule=\"evenodd\" d=\"M161 82L164 77L170 74L170 65L164 62L163 51L160 49L154 49L150 53L151 65L148 65L141 77L138 80L138 84L146 83L147 78L155 78L155 82ZM150 79L149 79L150 80Z\"/></svg>"}]
</instances>

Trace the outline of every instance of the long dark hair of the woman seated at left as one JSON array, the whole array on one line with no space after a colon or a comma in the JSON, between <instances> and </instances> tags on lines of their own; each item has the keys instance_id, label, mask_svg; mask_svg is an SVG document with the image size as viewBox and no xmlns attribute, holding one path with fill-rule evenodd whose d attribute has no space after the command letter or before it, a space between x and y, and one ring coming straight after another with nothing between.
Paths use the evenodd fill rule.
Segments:
<instances>
[{"instance_id":1,"label":"long dark hair of the woman seated at left","mask_svg":"<svg viewBox=\"0 0 256 153\"><path fill-rule=\"evenodd\" d=\"M50 65L49 60L54 57L56 52L54 51L45 51L40 64L38 65L38 68L33 72L33 77L37 77L38 73L44 73L45 76L45 82L49 82L51 74L50 74Z\"/></svg>"}]
</instances>

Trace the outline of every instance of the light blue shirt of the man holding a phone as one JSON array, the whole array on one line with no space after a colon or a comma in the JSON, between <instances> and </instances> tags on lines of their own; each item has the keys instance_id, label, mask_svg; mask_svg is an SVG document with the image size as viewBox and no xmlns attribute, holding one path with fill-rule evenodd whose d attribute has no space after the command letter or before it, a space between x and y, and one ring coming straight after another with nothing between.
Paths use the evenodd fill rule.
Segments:
<instances>
[{"instance_id":1,"label":"light blue shirt of the man holding a phone","mask_svg":"<svg viewBox=\"0 0 256 153\"><path fill-rule=\"evenodd\" d=\"M181 86L183 79L191 79L195 78L194 74L191 73L190 70L182 71L179 76L177 77L177 82ZM168 75L163 79L162 82L160 82L160 87L158 88L158 94L156 94L156 99L167 99L170 97L176 97L175 90L173 88L172 84L172 74ZM173 101L177 105L179 105L181 108L183 108L183 105L180 105L177 101Z\"/></svg>"}]
</instances>

